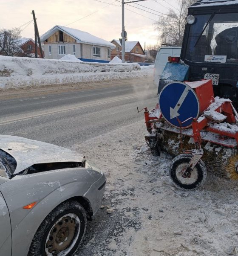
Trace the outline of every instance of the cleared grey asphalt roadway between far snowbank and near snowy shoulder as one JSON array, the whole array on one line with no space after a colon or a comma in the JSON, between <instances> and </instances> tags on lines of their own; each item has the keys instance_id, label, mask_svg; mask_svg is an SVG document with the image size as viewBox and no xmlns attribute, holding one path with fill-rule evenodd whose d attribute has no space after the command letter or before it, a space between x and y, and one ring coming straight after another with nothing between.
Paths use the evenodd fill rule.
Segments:
<instances>
[{"instance_id":1,"label":"cleared grey asphalt roadway between far snowbank and near snowy shoulder","mask_svg":"<svg viewBox=\"0 0 238 256\"><path fill-rule=\"evenodd\" d=\"M0 102L0 132L72 147L142 119L136 106L156 102L150 84L141 79L91 90L11 94Z\"/></svg>"}]
</instances>

